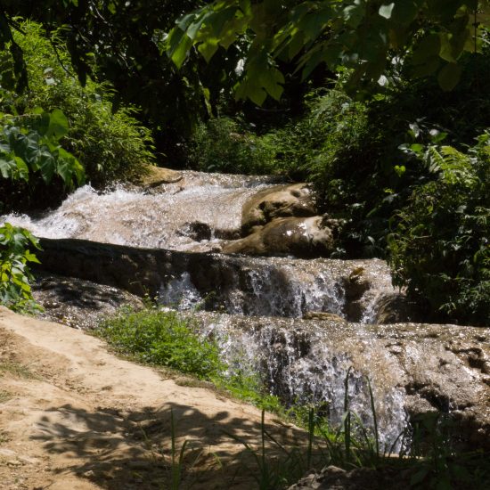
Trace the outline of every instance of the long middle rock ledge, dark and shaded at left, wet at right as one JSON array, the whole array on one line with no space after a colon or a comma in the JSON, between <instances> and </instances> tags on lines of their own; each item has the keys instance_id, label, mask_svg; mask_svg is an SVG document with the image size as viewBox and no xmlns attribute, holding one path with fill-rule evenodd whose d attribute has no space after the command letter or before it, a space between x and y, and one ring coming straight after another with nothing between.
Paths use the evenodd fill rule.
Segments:
<instances>
[{"instance_id":1,"label":"long middle rock ledge, dark and shaded at left, wet at right","mask_svg":"<svg viewBox=\"0 0 490 490\"><path fill-rule=\"evenodd\" d=\"M346 315L345 278L362 267L372 298L393 291L387 265L377 259L303 260L134 249L81 240L42 239L38 269L78 277L153 298L237 314L302 317ZM369 301L364 308L369 307ZM362 312L361 312L362 314ZM347 319L350 316L347 314Z\"/></svg>"}]
</instances>

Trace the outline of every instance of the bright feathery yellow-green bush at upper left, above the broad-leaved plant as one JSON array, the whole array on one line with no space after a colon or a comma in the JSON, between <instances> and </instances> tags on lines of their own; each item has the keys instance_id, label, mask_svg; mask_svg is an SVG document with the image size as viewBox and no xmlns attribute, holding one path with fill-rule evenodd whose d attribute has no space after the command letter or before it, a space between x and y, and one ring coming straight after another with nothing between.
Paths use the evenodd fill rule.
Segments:
<instances>
[{"instance_id":1,"label":"bright feathery yellow-green bush at upper left, above the broad-leaved plant","mask_svg":"<svg viewBox=\"0 0 490 490\"><path fill-rule=\"evenodd\" d=\"M4 110L24 114L36 107L60 109L69 119L64 146L80 160L94 185L142 173L144 164L153 161L152 140L150 131L134 118L135 109L116 110L108 84L87 80L80 86L66 46L56 35L50 41L34 22L22 23L21 29L24 34L16 32L15 39L27 62L29 91L22 96L4 94ZM11 62L6 53L0 58L2 76Z\"/></svg>"}]
</instances>

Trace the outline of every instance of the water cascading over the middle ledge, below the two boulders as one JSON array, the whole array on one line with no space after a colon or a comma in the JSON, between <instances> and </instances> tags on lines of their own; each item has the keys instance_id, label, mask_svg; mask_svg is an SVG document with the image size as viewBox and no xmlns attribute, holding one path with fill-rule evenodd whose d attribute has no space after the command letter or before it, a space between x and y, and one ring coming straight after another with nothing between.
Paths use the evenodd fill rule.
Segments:
<instances>
[{"instance_id":1,"label":"water cascading over the middle ledge, below the two boulders","mask_svg":"<svg viewBox=\"0 0 490 490\"><path fill-rule=\"evenodd\" d=\"M388 267L377 259L216 256L209 269L215 266L219 274L209 280L211 283L206 288L201 288L206 292L200 293L200 299L196 296L199 288L192 282L192 275L184 272L161 288L159 303L178 309L200 303L207 306L206 309L229 314L294 318L323 312L355 320L347 311L353 308L347 306L355 304L359 317L369 317L375 314L373 305L378 294L393 291ZM346 282L349 274L360 268L363 269L363 280L371 287L359 291L357 298L350 297L347 304ZM372 290L376 294L372 294ZM189 297L196 298L196 301L189 302Z\"/></svg>"}]
</instances>

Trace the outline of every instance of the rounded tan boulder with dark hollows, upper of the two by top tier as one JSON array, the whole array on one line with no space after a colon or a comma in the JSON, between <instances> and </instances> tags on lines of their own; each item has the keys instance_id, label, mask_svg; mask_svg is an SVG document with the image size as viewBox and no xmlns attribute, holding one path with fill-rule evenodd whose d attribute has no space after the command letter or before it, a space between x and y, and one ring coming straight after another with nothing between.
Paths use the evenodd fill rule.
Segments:
<instances>
[{"instance_id":1,"label":"rounded tan boulder with dark hollows, upper of the two by top tier","mask_svg":"<svg viewBox=\"0 0 490 490\"><path fill-rule=\"evenodd\" d=\"M307 184L278 185L257 192L243 205L241 230L246 235L254 226L265 225L277 217L315 214L314 195Z\"/></svg>"}]
</instances>

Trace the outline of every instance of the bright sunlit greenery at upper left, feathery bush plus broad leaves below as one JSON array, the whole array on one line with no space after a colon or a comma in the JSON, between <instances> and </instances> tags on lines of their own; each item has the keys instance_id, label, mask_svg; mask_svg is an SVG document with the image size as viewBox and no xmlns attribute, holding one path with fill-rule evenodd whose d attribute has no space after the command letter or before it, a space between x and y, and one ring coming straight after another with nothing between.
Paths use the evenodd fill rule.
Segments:
<instances>
[{"instance_id":1,"label":"bright sunlit greenery at upper left, feathery bush plus broad leaves below","mask_svg":"<svg viewBox=\"0 0 490 490\"><path fill-rule=\"evenodd\" d=\"M0 165L7 179L0 183L0 208L54 205L74 185L101 186L142 173L154 156L150 130L136 121L135 108L114 111L108 83L89 80L82 87L57 32L46 37L34 22L19 29L13 39L27 61L29 90L0 87L3 138L10 144L4 151L12 157ZM0 63L2 80L12 77L7 53Z\"/></svg>"}]
</instances>

